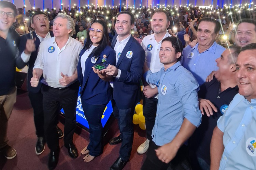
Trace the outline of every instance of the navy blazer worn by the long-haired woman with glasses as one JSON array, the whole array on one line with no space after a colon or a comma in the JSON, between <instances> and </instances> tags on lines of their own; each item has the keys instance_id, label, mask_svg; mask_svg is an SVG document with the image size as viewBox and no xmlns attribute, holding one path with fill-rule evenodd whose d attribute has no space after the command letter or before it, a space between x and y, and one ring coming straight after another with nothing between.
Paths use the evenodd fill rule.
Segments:
<instances>
[{"instance_id":1,"label":"navy blazer worn by the long-haired woman with glasses","mask_svg":"<svg viewBox=\"0 0 256 170\"><path fill-rule=\"evenodd\" d=\"M105 82L99 78L98 74L93 71L92 67L95 64L102 63L101 60L103 59L104 54L107 56L106 64L115 65L115 51L110 46L106 46L106 48L100 53L100 56L97 58L95 63L91 61L93 58L93 55L91 54L85 63L82 63L85 65L83 76L81 56L85 51L86 49L83 49L79 54L79 62L77 64L77 75L81 85L81 99L92 105L108 104L108 102L112 99L112 87L110 86L109 82Z\"/></svg>"}]
</instances>

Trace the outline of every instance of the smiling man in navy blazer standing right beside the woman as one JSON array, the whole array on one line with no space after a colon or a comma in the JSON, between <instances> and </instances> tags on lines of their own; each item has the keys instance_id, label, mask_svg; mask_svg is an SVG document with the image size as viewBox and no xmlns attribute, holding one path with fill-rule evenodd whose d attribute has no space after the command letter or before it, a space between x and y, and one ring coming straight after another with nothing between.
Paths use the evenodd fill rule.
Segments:
<instances>
[{"instance_id":1,"label":"smiling man in navy blazer standing right beside the woman","mask_svg":"<svg viewBox=\"0 0 256 170\"><path fill-rule=\"evenodd\" d=\"M131 36L134 27L134 16L123 11L117 16L111 47L116 52L116 66L109 65L105 72L113 76L112 107L118 120L120 136L110 140L110 145L122 142L119 157L111 170L123 169L129 161L133 142L132 117L136 103L140 100L140 80L142 77L145 51Z\"/></svg>"}]
</instances>

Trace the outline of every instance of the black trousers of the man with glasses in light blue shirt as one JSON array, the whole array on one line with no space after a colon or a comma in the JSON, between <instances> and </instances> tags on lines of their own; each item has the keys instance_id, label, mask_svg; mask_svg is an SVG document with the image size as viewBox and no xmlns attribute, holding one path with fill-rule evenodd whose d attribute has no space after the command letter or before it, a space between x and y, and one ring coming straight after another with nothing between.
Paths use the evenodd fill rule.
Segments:
<instances>
[{"instance_id":1,"label":"black trousers of the man with glasses in light blue shirt","mask_svg":"<svg viewBox=\"0 0 256 170\"><path fill-rule=\"evenodd\" d=\"M187 146L183 145L179 151L177 152L174 159L171 160L169 164L166 164L158 159L156 156L155 149L159 148L160 146L156 145L155 142L150 140L149 148L147 150L147 157L141 167L141 170L191 170L188 155L187 155Z\"/></svg>"}]
</instances>

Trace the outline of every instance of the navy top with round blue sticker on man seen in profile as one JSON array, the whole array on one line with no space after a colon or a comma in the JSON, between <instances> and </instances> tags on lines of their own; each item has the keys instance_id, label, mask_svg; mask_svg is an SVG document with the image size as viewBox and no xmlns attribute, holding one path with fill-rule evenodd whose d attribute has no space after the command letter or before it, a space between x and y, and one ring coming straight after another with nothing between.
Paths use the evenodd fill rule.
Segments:
<instances>
[{"instance_id":1,"label":"navy top with round blue sticker on man seen in profile","mask_svg":"<svg viewBox=\"0 0 256 170\"><path fill-rule=\"evenodd\" d=\"M195 150L195 153L203 158L210 165L210 143L212 139L213 129L217 125L217 120L225 112L232 101L233 97L238 94L238 86L232 88L229 87L226 90L219 93L221 83L214 78L211 82L205 82L200 86L198 91L198 98L210 100L218 112L213 111L213 115L208 117L206 114L202 116L202 123L196 129L195 133L191 137L191 143Z\"/></svg>"}]
</instances>

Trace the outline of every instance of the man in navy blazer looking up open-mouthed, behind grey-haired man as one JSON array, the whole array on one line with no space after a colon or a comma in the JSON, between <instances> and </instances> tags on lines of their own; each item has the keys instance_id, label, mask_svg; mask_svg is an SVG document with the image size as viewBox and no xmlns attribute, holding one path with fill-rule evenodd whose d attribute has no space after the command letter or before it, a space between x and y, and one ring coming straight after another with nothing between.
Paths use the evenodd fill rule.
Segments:
<instances>
[{"instance_id":1,"label":"man in navy blazer looking up open-mouthed, behind grey-haired man","mask_svg":"<svg viewBox=\"0 0 256 170\"><path fill-rule=\"evenodd\" d=\"M35 29L35 31L32 32L32 36L29 33L20 38L18 58L24 66L28 65L28 96L34 110L34 123L38 137L38 141L35 146L35 153L40 155L43 153L45 148L43 95L40 90L42 83L39 81L39 85L37 87L32 87L30 79L33 77L32 71L35 60L37 59L38 47L43 40L53 37L53 32L49 32L48 17L41 11L34 13L31 17L31 27ZM58 129L58 134L60 138L63 137L63 133L60 129Z\"/></svg>"}]
</instances>

